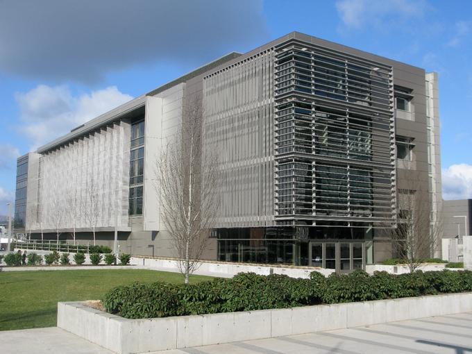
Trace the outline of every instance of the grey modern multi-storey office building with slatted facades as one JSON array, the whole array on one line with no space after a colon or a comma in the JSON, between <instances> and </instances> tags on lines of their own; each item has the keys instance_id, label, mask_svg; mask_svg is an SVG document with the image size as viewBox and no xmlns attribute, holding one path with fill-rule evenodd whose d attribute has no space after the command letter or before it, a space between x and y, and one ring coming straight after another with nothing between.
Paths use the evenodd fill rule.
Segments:
<instances>
[{"instance_id":1,"label":"grey modern multi-storey office building with slatted facades","mask_svg":"<svg viewBox=\"0 0 472 354\"><path fill-rule=\"evenodd\" d=\"M17 228L170 256L155 161L203 105L221 205L205 258L349 271L392 255L405 195L441 207L437 74L289 33L230 53L18 159ZM412 188L412 180L415 182ZM414 189L414 190L413 190ZM439 251L439 250L437 250Z\"/></svg>"}]
</instances>

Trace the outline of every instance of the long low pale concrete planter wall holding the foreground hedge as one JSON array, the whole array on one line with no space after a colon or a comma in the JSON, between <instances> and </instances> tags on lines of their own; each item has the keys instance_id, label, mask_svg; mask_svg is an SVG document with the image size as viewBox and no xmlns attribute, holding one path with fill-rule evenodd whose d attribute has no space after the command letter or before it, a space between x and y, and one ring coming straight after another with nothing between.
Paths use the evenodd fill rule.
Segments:
<instances>
[{"instance_id":1,"label":"long low pale concrete planter wall holding the foreground hedge","mask_svg":"<svg viewBox=\"0 0 472 354\"><path fill-rule=\"evenodd\" d=\"M58 327L115 353L141 353L470 311L472 293L163 319L124 319L83 303L58 303Z\"/></svg>"}]
</instances>

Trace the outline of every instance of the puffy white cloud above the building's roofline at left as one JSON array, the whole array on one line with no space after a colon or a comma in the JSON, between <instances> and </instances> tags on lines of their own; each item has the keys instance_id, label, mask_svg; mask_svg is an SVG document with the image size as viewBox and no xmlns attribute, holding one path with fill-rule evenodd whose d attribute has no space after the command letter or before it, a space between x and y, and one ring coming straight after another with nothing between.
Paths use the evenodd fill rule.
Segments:
<instances>
[{"instance_id":1,"label":"puffy white cloud above the building's roofline at left","mask_svg":"<svg viewBox=\"0 0 472 354\"><path fill-rule=\"evenodd\" d=\"M17 93L15 99L23 122L19 132L26 135L31 149L36 149L133 97L115 86L74 96L67 86L38 85Z\"/></svg>"}]
</instances>

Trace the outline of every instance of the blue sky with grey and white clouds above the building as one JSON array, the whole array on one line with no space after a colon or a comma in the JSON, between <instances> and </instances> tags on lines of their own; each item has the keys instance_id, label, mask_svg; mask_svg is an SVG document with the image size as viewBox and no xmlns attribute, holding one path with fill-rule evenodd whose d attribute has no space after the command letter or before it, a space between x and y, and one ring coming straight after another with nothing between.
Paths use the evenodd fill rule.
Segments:
<instances>
[{"instance_id":1,"label":"blue sky with grey and white clouds above the building","mask_svg":"<svg viewBox=\"0 0 472 354\"><path fill-rule=\"evenodd\" d=\"M16 158L230 51L300 31L439 73L445 199L472 198L472 2L0 1L0 214Z\"/></svg>"}]
</instances>

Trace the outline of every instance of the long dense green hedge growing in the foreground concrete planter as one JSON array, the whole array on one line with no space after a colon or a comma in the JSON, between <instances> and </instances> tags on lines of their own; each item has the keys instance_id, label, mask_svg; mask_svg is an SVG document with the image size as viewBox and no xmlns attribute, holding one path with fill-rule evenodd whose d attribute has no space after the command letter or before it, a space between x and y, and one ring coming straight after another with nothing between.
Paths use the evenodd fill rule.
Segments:
<instances>
[{"instance_id":1,"label":"long dense green hedge growing in the foreground concrete planter","mask_svg":"<svg viewBox=\"0 0 472 354\"><path fill-rule=\"evenodd\" d=\"M472 271L416 271L398 276L354 271L332 273L328 278L314 271L310 279L239 273L231 279L194 285L123 285L106 293L102 302L107 312L146 319L471 291Z\"/></svg>"}]
</instances>

